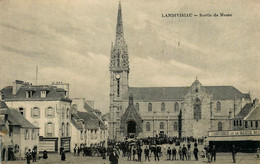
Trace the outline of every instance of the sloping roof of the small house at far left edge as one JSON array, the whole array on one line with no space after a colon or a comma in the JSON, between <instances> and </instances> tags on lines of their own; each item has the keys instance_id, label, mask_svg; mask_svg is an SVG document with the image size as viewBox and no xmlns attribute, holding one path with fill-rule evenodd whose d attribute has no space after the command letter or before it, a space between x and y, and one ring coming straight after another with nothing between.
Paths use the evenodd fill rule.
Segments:
<instances>
[{"instance_id":1,"label":"sloping roof of the small house at far left edge","mask_svg":"<svg viewBox=\"0 0 260 164\"><path fill-rule=\"evenodd\" d=\"M8 109L8 121L10 122L10 125L21 126L23 128L30 129L39 129L39 127L34 126L15 109Z\"/></svg>"}]
</instances>

